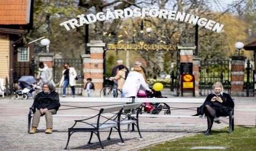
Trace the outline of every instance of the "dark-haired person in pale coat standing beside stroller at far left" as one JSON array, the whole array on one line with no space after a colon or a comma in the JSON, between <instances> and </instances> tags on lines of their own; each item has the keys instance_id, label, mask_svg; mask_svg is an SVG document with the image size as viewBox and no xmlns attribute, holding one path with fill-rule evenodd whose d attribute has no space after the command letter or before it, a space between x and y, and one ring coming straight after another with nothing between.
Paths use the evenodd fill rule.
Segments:
<instances>
[{"instance_id":1,"label":"dark-haired person in pale coat standing beside stroller at far left","mask_svg":"<svg viewBox=\"0 0 256 151\"><path fill-rule=\"evenodd\" d=\"M45 82L50 82L53 86L55 86L55 82L53 82L52 70L43 62L39 63L39 72L37 74L36 79L39 79L39 85L42 86Z\"/></svg>"}]
</instances>

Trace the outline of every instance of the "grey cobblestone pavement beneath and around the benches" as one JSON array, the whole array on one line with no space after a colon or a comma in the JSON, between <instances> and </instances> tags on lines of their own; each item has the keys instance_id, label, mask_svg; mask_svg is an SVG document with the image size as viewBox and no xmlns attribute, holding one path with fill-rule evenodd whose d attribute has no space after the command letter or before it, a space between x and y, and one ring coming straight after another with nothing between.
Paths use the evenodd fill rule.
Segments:
<instances>
[{"instance_id":1,"label":"grey cobblestone pavement beneath and around the benches","mask_svg":"<svg viewBox=\"0 0 256 151\"><path fill-rule=\"evenodd\" d=\"M255 97L235 98L235 124L255 125L256 99ZM0 150L63 150L67 143L67 129L73 125L74 119L61 118L53 119L53 133L47 135L45 131L45 119L41 118L39 131L35 135L27 132L28 127L28 108L32 100L13 100L12 98L0 99ZM79 104L83 105L83 104ZM97 103L89 104L96 106ZM196 104L197 105L197 104ZM87 104L88 106L88 104ZM184 107L184 104L171 104L172 107ZM186 104L192 107L195 104ZM197 106L200 106L198 104ZM195 107L197 107L195 106ZM70 111L59 111L59 113L69 113ZM77 111L91 112L91 111ZM178 114L185 111L173 111ZM188 111L194 114L195 111ZM186 113L186 114L187 114ZM58 113L57 113L58 114ZM184 114L184 113L182 113ZM220 129L228 125L228 119L221 119L221 124L214 124L213 129ZM199 118L140 118L140 130L143 140L139 140L138 132L127 132L127 126L122 126L122 136L125 145L119 146L119 136L117 132L112 132L112 139L106 140L108 131L100 133L102 143L106 150L138 150L153 144L176 140L184 136L194 135L206 130L206 119ZM227 132L227 131L224 131ZM203 133L201 133L203 136ZM205 136L203 136L205 137ZM93 145L87 145L89 133L77 132L70 139L69 149L71 150L100 150L100 144L96 136L92 137Z\"/></svg>"}]
</instances>

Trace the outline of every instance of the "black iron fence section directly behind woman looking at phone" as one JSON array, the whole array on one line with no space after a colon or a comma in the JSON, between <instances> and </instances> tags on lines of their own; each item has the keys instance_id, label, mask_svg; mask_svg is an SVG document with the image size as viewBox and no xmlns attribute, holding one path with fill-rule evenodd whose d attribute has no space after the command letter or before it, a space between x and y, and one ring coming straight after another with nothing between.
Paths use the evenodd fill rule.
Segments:
<instances>
[{"instance_id":1,"label":"black iron fence section directly behind woman looking at phone","mask_svg":"<svg viewBox=\"0 0 256 151\"><path fill-rule=\"evenodd\" d=\"M207 96L213 92L212 85L221 82L224 92L230 93L230 68L228 60L201 61L199 68L199 94Z\"/></svg>"}]
</instances>

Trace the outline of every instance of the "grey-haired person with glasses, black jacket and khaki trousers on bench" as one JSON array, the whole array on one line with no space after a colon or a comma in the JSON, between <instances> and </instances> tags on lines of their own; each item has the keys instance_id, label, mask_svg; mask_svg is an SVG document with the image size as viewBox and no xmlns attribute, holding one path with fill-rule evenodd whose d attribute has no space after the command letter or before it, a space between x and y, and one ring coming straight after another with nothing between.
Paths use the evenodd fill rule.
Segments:
<instances>
[{"instance_id":1,"label":"grey-haired person with glasses, black jacket and khaki trousers on bench","mask_svg":"<svg viewBox=\"0 0 256 151\"><path fill-rule=\"evenodd\" d=\"M45 133L52 133L52 114L56 114L60 106L59 95L55 92L55 87L50 82L43 83L42 92L39 92L34 100L34 107L37 110L33 115L32 127L29 133L36 133L41 115L45 115Z\"/></svg>"}]
</instances>

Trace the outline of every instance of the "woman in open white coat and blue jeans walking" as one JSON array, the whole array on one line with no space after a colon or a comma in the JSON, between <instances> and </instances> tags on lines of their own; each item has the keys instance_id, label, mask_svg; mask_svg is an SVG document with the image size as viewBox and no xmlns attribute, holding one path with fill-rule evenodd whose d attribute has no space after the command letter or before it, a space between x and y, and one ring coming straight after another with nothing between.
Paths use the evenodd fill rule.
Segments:
<instances>
[{"instance_id":1,"label":"woman in open white coat and blue jeans walking","mask_svg":"<svg viewBox=\"0 0 256 151\"><path fill-rule=\"evenodd\" d=\"M72 90L72 97L75 97L75 78L77 77L77 72L74 67L71 67L69 63L64 64L64 70L62 71L61 82L59 82L59 86L63 86L63 95L66 95L66 88L68 84Z\"/></svg>"}]
</instances>

